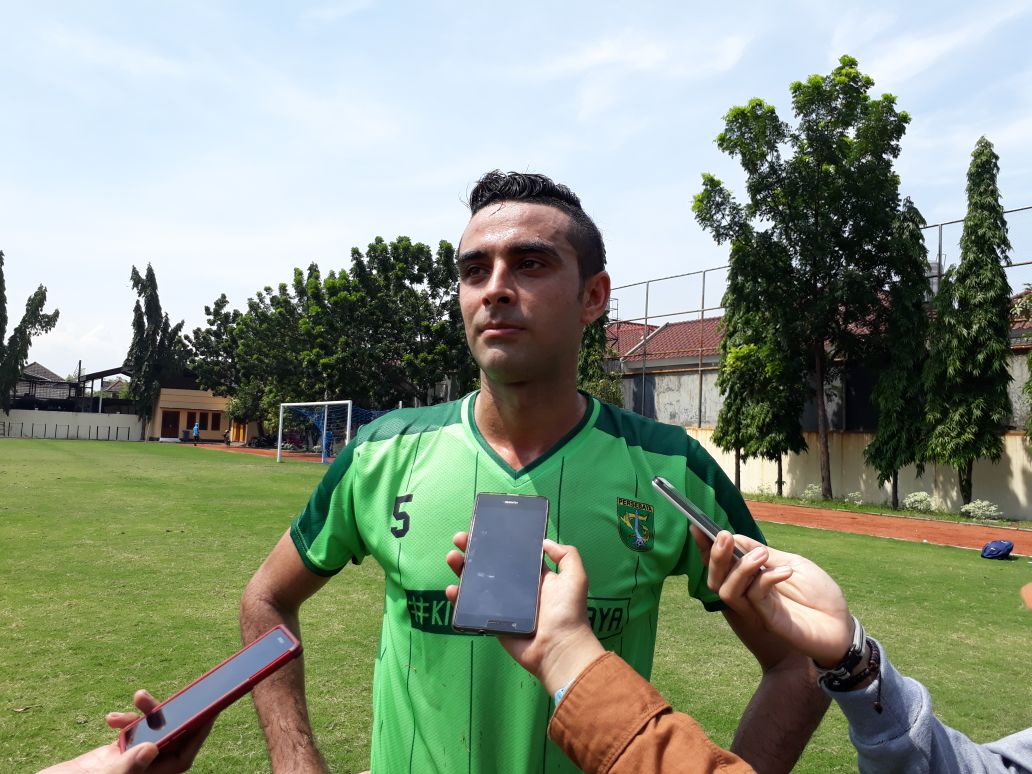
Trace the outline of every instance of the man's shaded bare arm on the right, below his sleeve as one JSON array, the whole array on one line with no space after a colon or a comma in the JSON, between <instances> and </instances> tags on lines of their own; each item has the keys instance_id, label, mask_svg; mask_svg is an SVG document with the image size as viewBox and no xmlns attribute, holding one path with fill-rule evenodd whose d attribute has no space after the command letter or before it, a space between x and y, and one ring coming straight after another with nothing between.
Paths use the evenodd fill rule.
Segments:
<instances>
[{"instance_id":1,"label":"man's shaded bare arm on the right, below his sleeve","mask_svg":"<svg viewBox=\"0 0 1032 774\"><path fill-rule=\"evenodd\" d=\"M752 651L763 677L735 733L731 749L760 774L789 772L828 710L810 659L733 611L724 617Z\"/></svg>"}]
</instances>

